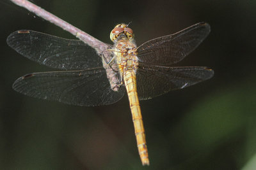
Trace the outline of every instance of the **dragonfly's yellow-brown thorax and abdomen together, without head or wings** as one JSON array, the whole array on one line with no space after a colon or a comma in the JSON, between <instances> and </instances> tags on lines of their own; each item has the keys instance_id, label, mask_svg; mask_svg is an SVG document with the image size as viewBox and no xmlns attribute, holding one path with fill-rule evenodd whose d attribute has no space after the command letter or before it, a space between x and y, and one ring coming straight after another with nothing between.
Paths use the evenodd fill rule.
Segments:
<instances>
[{"instance_id":1,"label":"dragonfly's yellow-brown thorax and abdomen together, without head or wings","mask_svg":"<svg viewBox=\"0 0 256 170\"><path fill-rule=\"evenodd\" d=\"M113 51L116 56L116 64L118 64L121 74L120 76L122 77L122 83L125 83L129 97L132 120L141 162L143 165L149 165L145 129L143 127L136 86L136 69L138 66L136 45L131 40L120 39L119 41L116 41L115 49Z\"/></svg>"}]
</instances>

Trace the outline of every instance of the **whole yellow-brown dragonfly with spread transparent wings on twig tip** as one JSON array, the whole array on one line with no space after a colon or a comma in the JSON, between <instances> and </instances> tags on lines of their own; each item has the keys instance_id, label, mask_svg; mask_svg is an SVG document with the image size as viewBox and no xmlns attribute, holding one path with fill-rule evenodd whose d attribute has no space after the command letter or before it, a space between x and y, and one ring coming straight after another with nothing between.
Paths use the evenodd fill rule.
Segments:
<instances>
[{"instance_id":1,"label":"whole yellow-brown dragonfly with spread transparent wings on twig tip","mask_svg":"<svg viewBox=\"0 0 256 170\"><path fill-rule=\"evenodd\" d=\"M195 50L210 30L209 24L200 22L140 46L128 24L118 24L111 31L113 45L15 31L7 38L9 46L30 60L62 71L26 74L13 83L13 89L77 106L116 103L126 90L140 159L149 165L139 101L211 78L214 71L208 67L170 67Z\"/></svg>"}]
</instances>

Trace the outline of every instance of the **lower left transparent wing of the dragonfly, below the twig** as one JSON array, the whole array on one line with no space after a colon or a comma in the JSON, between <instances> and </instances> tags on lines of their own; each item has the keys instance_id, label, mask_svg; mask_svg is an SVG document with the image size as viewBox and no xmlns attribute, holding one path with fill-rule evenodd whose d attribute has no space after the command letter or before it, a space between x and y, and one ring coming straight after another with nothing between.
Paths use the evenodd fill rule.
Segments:
<instances>
[{"instance_id":1,"label":"lower left transparent wing of the dragonfly, below the twig","mask_svg":"<svg viewBox=\"0 0 256 170\"><path fill-rule=\"evenodd\" d=\"M117 78L113 75L111 78ZM111 89L103 67L82 71L31 73L13 83L13 89L27 96L78 106L115 103L124 96L124 87Z\"/></svg>"}]
</instances>

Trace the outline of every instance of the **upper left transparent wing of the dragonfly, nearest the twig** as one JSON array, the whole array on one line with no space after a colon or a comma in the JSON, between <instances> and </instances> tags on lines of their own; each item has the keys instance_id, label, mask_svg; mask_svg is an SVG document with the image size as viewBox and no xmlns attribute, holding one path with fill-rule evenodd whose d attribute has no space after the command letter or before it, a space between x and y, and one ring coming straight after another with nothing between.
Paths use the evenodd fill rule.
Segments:
<instances>
[{"instance_id":1,"label":"upper left transparent wing of the dragonfly, nearest the twig","mask_svg":"<svg viewBox=\"0 0 256 170\"><path fill-rule=\"evenodd\" d=\"M59 38L36 31L15 31L7 38L14 50L28 59L58 69L89 69L102 66L102 56L111 58L112 52L104 46L89 46L80 40ZM109 56L106 56L109 55Z\"/></svg>"}]
</instances>

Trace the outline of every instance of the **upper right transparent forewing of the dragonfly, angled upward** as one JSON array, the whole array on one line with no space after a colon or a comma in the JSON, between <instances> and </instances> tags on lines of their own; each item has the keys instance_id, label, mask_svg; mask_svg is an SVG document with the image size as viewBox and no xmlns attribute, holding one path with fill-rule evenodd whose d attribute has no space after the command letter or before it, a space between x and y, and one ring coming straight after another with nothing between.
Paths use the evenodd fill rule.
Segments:
<instances>
[{"instance_id":1,"label":"upper right transparent forewing of the dragonfly, angled upward","mask_svg":"<svg viewBox=\"0 0 256 170\"><path fill-rule=\"evenodd\" d=\"M210 31L210 25L201 22L175 34L152 39L138 47L138 58L143 63L170 66L195 50Z\"/></svg>"}]
</instances>

